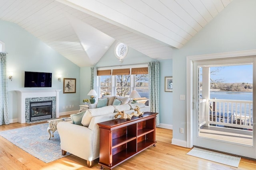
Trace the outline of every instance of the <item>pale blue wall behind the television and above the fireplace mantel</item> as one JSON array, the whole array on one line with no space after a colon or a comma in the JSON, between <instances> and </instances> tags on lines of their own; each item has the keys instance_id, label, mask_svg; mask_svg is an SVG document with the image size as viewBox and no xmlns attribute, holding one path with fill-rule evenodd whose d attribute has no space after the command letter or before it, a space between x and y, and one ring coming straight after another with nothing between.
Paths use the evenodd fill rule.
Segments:
<instances>
[{"instance_id":1,"label":"pale blue wall behind the television and above the fireplace mantel","mask_svg":"<svg viewBox=\"0 0 256 170\"><path fill-rule=\"evenodd\" d=\"M54 51L48 45L22 29L20 26L0 20L0 41L5 43L8 79L8 105L10 119L17 119L17 94L15 90L63 89L63 78L76 78L76 93L60 92L60 112L78 110L80 102L80 68ZM52 72L52 88L24 88L24 71ZM58 82L58 75L62 75ZM63 109L74 105L74 108Z\"/></svg>"}]
</instances>

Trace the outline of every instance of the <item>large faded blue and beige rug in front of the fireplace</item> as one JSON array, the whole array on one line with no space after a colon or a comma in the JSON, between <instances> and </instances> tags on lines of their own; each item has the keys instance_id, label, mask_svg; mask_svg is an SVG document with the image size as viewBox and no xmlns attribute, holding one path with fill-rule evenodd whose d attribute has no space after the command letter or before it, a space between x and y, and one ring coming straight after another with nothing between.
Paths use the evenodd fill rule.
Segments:
<instances>
[{"instance_id":1,"label":"large faded blue and beige rug in front of the fireplace","mask_svg":"<svg viewBox=\"0 0 256 170\"><path fill-rule=\"evenodd\" d=\"M54 137L49 138L48 123L21 127L7 131L1 131L0 135L36 158L48 163L64 157L60 149L60 136L58 131ZM65 156L70 155L67 152Z\"/></svg>"}]
</instances>

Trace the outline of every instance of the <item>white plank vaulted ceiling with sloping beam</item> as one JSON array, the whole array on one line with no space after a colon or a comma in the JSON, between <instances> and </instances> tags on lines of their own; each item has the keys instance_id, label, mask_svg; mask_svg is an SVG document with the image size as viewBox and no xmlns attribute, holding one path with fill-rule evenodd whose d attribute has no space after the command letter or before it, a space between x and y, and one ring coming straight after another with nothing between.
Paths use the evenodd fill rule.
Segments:
<instances>
[{"instance_id":1,"label":"white plank vaulted ceiling with sloping beam","mask_svg":"<svg viewBox=\"0 0 256 170\"><path fill-rule=\"evenodd\" d=\"M232 0L0 0L0 20L18 24L74 64L93 66L120 41L171 59Z\"/></svg>"}]
</instances>

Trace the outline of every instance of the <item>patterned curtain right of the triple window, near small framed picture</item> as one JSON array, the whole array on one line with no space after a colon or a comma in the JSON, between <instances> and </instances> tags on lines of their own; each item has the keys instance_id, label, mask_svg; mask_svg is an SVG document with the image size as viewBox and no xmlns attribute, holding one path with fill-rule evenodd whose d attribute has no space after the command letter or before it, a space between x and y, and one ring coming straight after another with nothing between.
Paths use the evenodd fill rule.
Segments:
<instances>
[{"instance_id":1,"label":"patterned curtain right of the triple window, near small framed picture","mask_svg":"<svg viewBox=\"0 0 256 170\"><path fill-rule=\"evenodd\" d=\"M156 125L160 125L159 119L159 62L153 61L148 63L149 78L149 100L150 110L158 113L156 116Z\"/></svg>"}]
</instances>

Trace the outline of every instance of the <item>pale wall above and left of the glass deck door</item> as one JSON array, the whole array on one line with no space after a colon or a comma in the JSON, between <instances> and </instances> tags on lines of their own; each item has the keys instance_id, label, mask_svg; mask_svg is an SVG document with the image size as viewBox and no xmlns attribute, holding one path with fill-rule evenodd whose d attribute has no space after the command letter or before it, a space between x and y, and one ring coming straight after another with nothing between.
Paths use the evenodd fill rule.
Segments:
<instances>
[{"instance_id":1,"label":"pale wall above and left of the glass deck door","mask_svg":"<svg viewBox=\"0 0 256 170\"><path fill-rule=\"evenodd\" d=\"M256 49L256 1L232 1L184 47L173 50L173 138L186 141L186 57ZM184 128L184 134L179 128Z\"/></svg>"}]
</instances>

